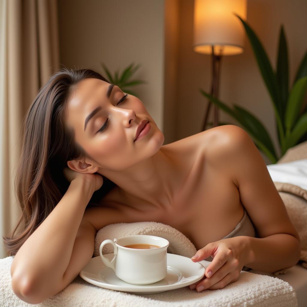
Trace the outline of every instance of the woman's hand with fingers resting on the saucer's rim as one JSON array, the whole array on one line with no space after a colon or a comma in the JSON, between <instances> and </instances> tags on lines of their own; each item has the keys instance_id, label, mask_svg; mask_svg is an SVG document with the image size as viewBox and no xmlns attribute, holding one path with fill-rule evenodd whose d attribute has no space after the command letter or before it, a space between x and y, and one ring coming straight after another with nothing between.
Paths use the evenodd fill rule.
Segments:
<instances>
[{"instance_id":1,"label":"woman's hand with fingers resting on the saucer's rim","mask_svg":"<svg viewBox=\"0 0 307 307\"><path fill-rule=\"evenodd\" d=\"M247 255L250 252L246 236L237 236L207 244L196 252L197 259L193 258L196 255L191 259L193 262L198 262L211 256L213 260L206 268L204 279L190 285L190 289L196 289L198 292L206 289L216 290L235 282L247 263Z\"/></svg>"}]
</instances>

